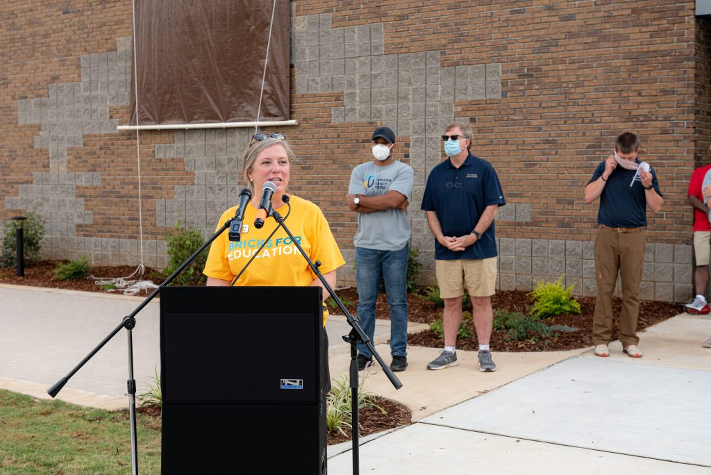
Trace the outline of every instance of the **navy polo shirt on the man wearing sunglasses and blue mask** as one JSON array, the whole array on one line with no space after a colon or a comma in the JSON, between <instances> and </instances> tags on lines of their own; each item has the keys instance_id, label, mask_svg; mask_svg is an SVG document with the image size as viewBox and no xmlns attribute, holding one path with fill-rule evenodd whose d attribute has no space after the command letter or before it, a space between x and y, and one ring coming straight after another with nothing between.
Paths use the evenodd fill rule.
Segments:
<instances>
[{"instance_id":1,"label":"navy polo shirt on the man wearing sunglasses and blue mask","mask_svg":"<svg viewBox=\"0 0 711 475\"><path fill-rule=\"evenodd\" d=\"M503 206L501 183L488 161L469 154L459 169L451 159L432 169L424 188L422 209L437 213L445 236L470 234L489 205ZM493 221L481 239L464 251L451 251L434 240L434 258L438 260L486 259L496 257L496 238Z\"/></svg>"}]
</instances>

